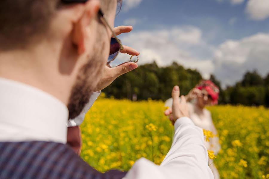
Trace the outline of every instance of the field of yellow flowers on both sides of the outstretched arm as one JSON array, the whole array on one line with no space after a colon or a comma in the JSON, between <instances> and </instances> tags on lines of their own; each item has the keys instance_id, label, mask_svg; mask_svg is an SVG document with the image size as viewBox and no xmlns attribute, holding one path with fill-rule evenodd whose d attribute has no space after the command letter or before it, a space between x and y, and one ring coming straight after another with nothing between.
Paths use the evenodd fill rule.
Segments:
<instances>
[{"instance_id":1,"label":"field of yellow flowers on both sides of the outstretched arm","mask_svg":"<svg viewBox=\"0 0 269 179\"><path fill-rule=\"evenodd\" d=\"M132 102L99 98L81 125L82 158L102 172L128 170L145 157L160 164L173 126L162 101ZM221 151L214 159L221 178L269 178L269 110L213 106Z\"/></svg>"}]
</instances>

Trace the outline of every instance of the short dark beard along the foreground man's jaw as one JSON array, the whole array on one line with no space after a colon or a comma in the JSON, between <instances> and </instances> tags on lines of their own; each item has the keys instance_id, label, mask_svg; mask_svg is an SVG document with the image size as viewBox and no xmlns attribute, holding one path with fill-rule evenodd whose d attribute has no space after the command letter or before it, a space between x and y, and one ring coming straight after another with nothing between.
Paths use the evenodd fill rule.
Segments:
<instances>
[{"instance_id":1,"label":"short dark beard along the foreground man's jaw","mask_svg":"<svg viewBox=\"0 0 269 179\"><path fill-rule=\"evenodd\" d=\"M101 37L99 34L98 36ZM95 45L93 49L94 55L80 68L75 84L72 87L67 105L69 119L74 119L80 115L84 106L89 102L103 72L105 64L100 58L103 57L105 41L104 39L98 39L96 42L95 44L98 45Z\"/></svg>"}]
</instances>

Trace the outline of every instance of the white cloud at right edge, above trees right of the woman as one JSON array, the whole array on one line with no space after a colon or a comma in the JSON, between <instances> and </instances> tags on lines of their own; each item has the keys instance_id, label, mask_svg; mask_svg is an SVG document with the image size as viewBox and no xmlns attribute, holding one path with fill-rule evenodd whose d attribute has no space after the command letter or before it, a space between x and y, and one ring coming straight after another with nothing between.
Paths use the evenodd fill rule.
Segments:
<instances>
[{"instance_id":1,"label":"white cloud at right edge, above trees right of the woman","mask_svg":"<svg viewBox=\"0 0 269 179\"><path fill-rule=\"evenodd\" d=\"M269 72L269 34L259 33L238 41L227 40L215 51L214 74L223 86L242 79L247 70Z\"/></svg>"}]
</instances>

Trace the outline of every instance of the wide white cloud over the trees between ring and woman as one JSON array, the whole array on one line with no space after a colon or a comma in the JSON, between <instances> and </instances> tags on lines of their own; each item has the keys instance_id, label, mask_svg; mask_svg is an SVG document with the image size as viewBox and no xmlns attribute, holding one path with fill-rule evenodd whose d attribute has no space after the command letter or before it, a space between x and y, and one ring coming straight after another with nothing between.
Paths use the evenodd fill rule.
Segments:
<instances>
[{"instance_id":1,"label":"wide white cloud over the trees between ring and woman","mask_svg":"<svg viewBox=\"0 0 269 179\"><path fill-rule=\"evenodd\" d=\"M201 30L196 27L173 27L132 32L121 37L121 40L123 44L140 52L140 65L156 61L159 66L167 66L176 61L184 67L200 70L203 77L208 78L214 71L214 64L208 58L196 57L203 56L201 53L210 49L202 41L201 34ZM200 50L200 52L195 51L195 48L205 50ZM129 58L127 54L120 54L115 61L120 64L128 61Z\"/></svg>"}]
</instances>

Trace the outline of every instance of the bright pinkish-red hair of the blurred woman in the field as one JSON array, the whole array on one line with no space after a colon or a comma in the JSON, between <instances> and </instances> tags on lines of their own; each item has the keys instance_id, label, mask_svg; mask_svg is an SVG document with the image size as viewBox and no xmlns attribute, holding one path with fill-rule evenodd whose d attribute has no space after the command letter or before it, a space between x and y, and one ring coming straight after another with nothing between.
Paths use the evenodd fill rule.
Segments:
<instances>
[{"instance_id":1,"label":"bright pinkish-red hair of the blurred woman in the field","mask_svg":"<svg viewBox=\"0 0 269 179\"><path fill-rule=\"evenodd\" d=\"M211 104L218 104L219 89L212 81L203 80L196 86L196 88L199 90L207 90L208 94L212 97Z\"/></svg>"}]
</instances>

